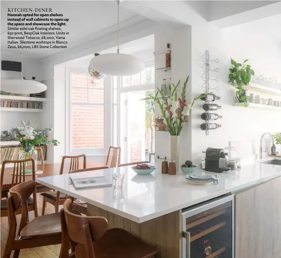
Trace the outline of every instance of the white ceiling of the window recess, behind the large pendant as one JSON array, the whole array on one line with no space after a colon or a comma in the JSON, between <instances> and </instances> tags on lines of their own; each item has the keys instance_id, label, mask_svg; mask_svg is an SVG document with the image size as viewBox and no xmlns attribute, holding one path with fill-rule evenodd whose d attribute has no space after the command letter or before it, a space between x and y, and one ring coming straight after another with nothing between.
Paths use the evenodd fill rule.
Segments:
<instances>
[{"instance_id":1,"label":"white ceiling of the window recess, behind the large pendant","mask_svg":"<svg viewBox=\"0 0 281 258\"><path fill-rule=\"evenodd\" d=\"M143 62L154 62L154 35L142 37L119 46L120 53L132 55ZM116 53L117 47L99 52L100 54ZM94 54L81 57L64 63L64 66L75 68L88 68Z\"/></svg>"}]
</instances>

